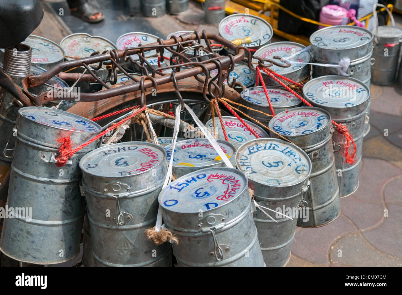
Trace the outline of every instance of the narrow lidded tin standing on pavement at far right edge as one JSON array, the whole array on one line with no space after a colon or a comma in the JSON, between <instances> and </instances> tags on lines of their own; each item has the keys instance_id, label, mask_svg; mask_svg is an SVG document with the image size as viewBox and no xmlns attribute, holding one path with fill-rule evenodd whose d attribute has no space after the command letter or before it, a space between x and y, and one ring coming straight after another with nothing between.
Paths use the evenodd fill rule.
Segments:
<instances>
[{"instance_id":1,"label":"narrow lidded tin standing on pavement at far right edge","mask_svg":"<svg viewBox=\"0 0 402 295\"><path fill-rule=\"evenodd\" d=\"M393 26L380 26L373 30L373 58L371 66L371 83L390 85L395 81L402 29Z\"/></svg>"}]
</instances>

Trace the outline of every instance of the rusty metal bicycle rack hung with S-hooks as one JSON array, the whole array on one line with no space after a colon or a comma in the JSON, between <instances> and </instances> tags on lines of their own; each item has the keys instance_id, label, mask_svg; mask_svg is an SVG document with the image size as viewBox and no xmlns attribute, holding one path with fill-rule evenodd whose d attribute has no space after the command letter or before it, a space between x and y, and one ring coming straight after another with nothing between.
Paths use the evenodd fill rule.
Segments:
<instances>
[{"instance_id":1,"label":"rusty metal bicycle rack hung with S-hooks","mask_svg":"<svg viewBox=\"0 0 402 295\"><path fill-rule=\"evenodd\" d=\"M201 45L201 39L206 43L206 46ZM235 52L235 55L228 54L227 56L221 56L212 49L212 40L214 43L219 43L224 47L229 48ZM164 52L170 53L170 60L168 66L154 67L145 58L144 52L149 50L156 50L158 56L160 56L160 61L164 61ZM184 52L189 50L194 50L194 56L185 56ZM207 60L201 60L201 56L197 53L203 52L203 56L207 55L210 58ZM135 61L132 55L136 55L139 61ZM252 62L252 58L256 59L257 62ZM135 65L139 68L142 77L131 76L120 64L119 61L130 62L131 65ZM61 62L56 66L53 66L45 73L37 76L28 76L23 79L23 93L20 89L16 89L16 85L13 83L8 87L5 87L14 93L18 101L25 106L40 106L50 101L57 99L63 99L66 101L73 101L74 95L68 93L68 90L64 89L61 95L57 97L52 97L48 92L43 92L37 96L33 96L29 92L30 87L36 87L43 85L51 77L60 74L64 70L71 68L84 67L89 74L77 74L77 73L63 73L63 78L70 81L92 81L98 82L105 88L102 91L95 93L80 93L80 101L83 102L93 102L102 99L108 99L111 97L119 97L133 93L135 91L141 91L141 97L139 99L139 105L146 104L145 92L147 89L158 89L158 86L174 82L176 94L178 94L178 99L180 101L180 93L178 92L177 80L194 77L198 82L203 83L203 97L206 101L209 101L209 97L223 97L225 95L225 87L223 85L225 80L228 80L229 87L234 87L236 80L229 81L230 72L234 69L237 62L245 61L251 70L256 68L253 66L259 65L261 67L270 67L273 64L278 66L290 66L283 65L273 60L262 59L259 57L252 57L250 50L242 45L234 45L230 41L220 37L219 35L207 33L205 30L200 34L195 31L194 33L186 33L180 37L173 36L171 39L162 40L158 39L157 43L152 43L148 45L139 44L137 47L126 48L125 50L112 50L105 51L101 54L99 52L94 52L91 56L86 58L80 58L76 60L69 60L66 62ZM94 71L99 70L102 66L107 66L108 68L108 78L107 80L101 80ZM170 74L163 73L164 70L172 69ZM214 77L210 77L209 72L212 70L218 70L218 74ZM130 80L130 84L127 83L116 83L117 71L126 74ZM203 74L205 78L199 75ZM108 86L105 81L109 81L111 85ZM2 83L4 84L4 83ZM7 83L6 83L7 84ZM70 91L74 89L70 89Z\"/></svg>"}]
</instances>

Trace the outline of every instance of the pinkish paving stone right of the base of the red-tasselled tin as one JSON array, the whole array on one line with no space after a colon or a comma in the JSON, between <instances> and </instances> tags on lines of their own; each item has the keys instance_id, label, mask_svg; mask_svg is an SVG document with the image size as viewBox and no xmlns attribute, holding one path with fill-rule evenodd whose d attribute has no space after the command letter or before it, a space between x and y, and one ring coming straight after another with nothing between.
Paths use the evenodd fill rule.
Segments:
<instances>
[{"instance_id":1,"label":"pinkish paving stone right of the base of the red-tasselled tin","mask_svg":"<svg viewBox=\"0 0 402 295\"><path fill-rule=\"evenodd\" d=\"M384 160L367 157L363 160L359 173L359 188L353 195L371 202L383 202L381 188L388 179L401 175L402 171Z\"/></svg>"}]
</instances>

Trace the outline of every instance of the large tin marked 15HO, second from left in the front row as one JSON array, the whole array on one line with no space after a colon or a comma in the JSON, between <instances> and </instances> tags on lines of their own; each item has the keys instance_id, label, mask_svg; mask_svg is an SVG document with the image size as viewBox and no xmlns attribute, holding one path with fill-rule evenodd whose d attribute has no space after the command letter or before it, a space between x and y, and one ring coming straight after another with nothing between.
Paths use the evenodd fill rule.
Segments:
<instances>
[{"instance_id":1,"label":"large tin marked 15HO, second from left in the front row","mask_svg":"<svg viewBox=\"0 0 402 295\"><path fill-rule=\"evenodd\" d=\"M157 246L145 234L156 221L164 150L148 142L102 146L80 168L94 266L171 266L170 244Z\"/></svg>"}]
</instances>

